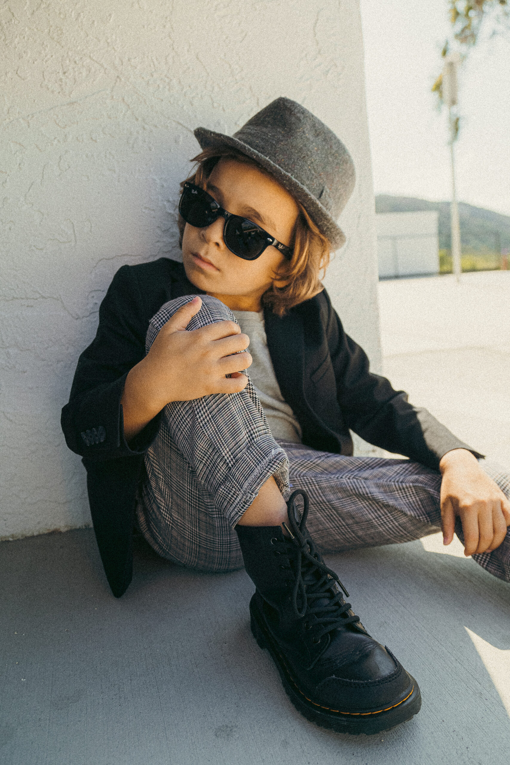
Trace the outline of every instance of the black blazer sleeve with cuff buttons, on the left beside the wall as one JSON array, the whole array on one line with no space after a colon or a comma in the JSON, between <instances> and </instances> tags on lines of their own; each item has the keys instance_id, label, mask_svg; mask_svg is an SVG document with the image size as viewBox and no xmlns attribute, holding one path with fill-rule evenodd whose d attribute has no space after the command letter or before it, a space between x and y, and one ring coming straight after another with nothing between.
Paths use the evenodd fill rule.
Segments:
<instances>
[{"instance_id":1,"label":"black blazer sleeve with cuff buttons, on the left beside the wall","mask_svg":"<svg viewBox=\"0 0 510 765\"><path fill-rule=\"evenodd\" d=\"M138 281L123 265L99 307L96 337L78 360L60 418L67 446L86 461L143 454L158 432L161 413L128 444L120 402L129 370L145 356L145 312Z\"/></svg>"}]
</instances>

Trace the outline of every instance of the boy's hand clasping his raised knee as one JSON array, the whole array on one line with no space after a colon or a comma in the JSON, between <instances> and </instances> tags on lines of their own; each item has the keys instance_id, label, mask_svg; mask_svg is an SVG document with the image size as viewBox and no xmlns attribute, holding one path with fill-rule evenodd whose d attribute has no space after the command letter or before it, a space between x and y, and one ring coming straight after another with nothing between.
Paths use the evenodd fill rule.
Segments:
<instances>
[{"instance_id":1,"label":"boy's hand clasping his raised knee","mask_svg":"<svg viewBox=\"0 0 510 765\"><path fill-rule=\"evenodd\" d=\"M171 401L190 401L211 393L237 393L248 384L241 374L252 363L248 335L239 324L219 321L188 332L186 327L200 311L197 296L179 308L161 327L145 357L151 399L158 411ZM232 355L235 354L235 355ZM229 374L231 377L227 378Z\"/></svg>"}]
</instances>

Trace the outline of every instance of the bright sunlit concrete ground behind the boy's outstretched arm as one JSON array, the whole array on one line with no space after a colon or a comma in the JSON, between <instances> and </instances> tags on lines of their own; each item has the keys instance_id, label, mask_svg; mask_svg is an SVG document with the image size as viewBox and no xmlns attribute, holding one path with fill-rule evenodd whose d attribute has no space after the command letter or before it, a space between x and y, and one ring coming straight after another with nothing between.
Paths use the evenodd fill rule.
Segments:
<instances>
[{"instance_id":1,"label":"bright sunlit concrete ground behind the boy's outstretched arm","mask_svg":"<svg viewBox=\"0 0 510 765\"><path fill-rule=\"evenodd\" d=\"M384 373L510 467L510 271L379 282Z\"/></svg>"}]
</instances>

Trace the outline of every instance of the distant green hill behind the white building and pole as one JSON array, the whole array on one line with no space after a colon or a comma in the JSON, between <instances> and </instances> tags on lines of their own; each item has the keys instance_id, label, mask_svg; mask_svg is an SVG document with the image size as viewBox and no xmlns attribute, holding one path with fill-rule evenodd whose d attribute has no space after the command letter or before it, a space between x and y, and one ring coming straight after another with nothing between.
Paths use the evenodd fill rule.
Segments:
<instances>
[{"instance_id":1,"label":"distant green hill behind the white building and pole","mask_svg":"<svg viewBox=\"0 0 510 765\"><path fill-rule=\"evenodd\" d=\"M450 202L429 202L414 197L375 197L376 213L414 213L424 210L439 212L439 247L450 249ZM463 252L494 252L495 233L499 232L502 248L510 248L510 216L459 202L460 239Z\"/></svg>"}]
</instances>

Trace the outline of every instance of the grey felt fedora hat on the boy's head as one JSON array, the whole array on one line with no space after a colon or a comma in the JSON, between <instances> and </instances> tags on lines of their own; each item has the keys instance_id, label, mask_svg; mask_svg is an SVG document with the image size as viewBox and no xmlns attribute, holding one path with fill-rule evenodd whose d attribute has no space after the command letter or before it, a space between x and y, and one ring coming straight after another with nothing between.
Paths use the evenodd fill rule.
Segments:
<instances>
[{"instance_id":1,"label":"grey felt fedora hat on the boy's head","mask_svg":"<svg viewBox=\"0 0 510 765\"><path fill-rule=\"evenodd\" d=\"M333 249L345 243L336 220L354 188L354 164L340 139L304 106L277 98L234 135L194 133L203 149L227 145L255 159L303 205Z\"/></svg>"}]
</instances>

